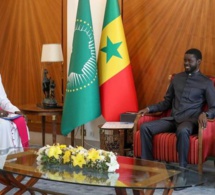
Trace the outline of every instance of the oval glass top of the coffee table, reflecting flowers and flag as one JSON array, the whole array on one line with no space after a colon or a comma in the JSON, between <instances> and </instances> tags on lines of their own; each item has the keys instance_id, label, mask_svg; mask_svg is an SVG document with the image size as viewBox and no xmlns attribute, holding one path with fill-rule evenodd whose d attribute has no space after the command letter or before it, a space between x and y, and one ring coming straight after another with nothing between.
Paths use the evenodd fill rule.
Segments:
<instances>
[{"instance_id":1,"label":"oval glass top of the coffee table, reflecting flowers and flag","mask_svg":"<svg viewBox=\"0 0 215 195\"><path fill-rule=\"evenodd\" d=\"M6 154L0 151L0 170L44 180L131 189L172 189L203 183L202 176L190 169L170 164L118 156L120 168L114 173L75 169L69 166L49 167L41 171L36 163L38 148L26 148ZM178 182L183 178L184 182Z\"/></svg>"}]
</instances>

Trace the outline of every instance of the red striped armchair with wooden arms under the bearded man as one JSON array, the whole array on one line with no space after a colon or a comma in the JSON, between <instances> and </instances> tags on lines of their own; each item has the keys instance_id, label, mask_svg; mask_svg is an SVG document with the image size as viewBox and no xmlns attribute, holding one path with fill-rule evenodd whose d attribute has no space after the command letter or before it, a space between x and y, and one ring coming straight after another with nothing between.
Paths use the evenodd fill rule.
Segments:
<instances>
[{"instance_id":1,"label":"red striped armchair with wooden arms under the bearded man","mask_svg":"<svg viewBox=\"0 0 215 195\"><path fill-rule=\"evenodd\" d=\"M210 77L215 85L215 77ZM215 97L214 97L215 98ZM140 125L147 121L158 120L161 117L169 116L170 111L137 115L134 125L134 156L141 156ZM178 162L176 152L175 133L160 133L153 138L153 155L155 160L166 162ZM190 149L188 154L189 164L198 164L198 170L202 173L203 162L208 157L215 157L215 120L209 120L207 128L199 128L198 135L190 136Z\"/></svg>"}]
</instances>

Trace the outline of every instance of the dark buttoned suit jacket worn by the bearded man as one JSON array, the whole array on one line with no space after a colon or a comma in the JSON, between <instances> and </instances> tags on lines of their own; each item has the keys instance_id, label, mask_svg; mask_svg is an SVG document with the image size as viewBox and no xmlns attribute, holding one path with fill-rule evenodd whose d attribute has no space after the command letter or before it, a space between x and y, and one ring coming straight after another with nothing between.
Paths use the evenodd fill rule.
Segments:
<instances>
[{"instance_id":1,"label":"dark buttoned suit jacket worn by the bearded man","mask_svg":"<svg viewBox=\"0 0 215 195\"><path fill-rule=\"evenodd\" d=\"M201 72L187 74L181 72L174 75L164 100L149 106L150 113L171 109L171 116L167 120L177 122L188 119L197 120L203 105L208 104L209 118L215 116L215 88L213 82Z\"/></svg>"}]
</instances>

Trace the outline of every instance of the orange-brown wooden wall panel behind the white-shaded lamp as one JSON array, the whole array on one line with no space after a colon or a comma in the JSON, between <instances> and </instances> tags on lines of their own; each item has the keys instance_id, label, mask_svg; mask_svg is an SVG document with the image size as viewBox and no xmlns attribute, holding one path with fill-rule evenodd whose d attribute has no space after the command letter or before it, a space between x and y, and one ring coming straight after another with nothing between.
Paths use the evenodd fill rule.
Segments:
<instances>
[{"instance_id":1,"label":"orange-brown wooden wall panel behind the white-shaded lamp","mask_svg":"<svg viewBox=\"0 0 215 195\"><path fill-rule=\"evenodd\" d=\"M42 44L65 43L63 9L63 0L1 0L0 74L8 97L17 106L43 98ZM60 101L61 64L49 68Z\"/></svg>"}]
</instances>

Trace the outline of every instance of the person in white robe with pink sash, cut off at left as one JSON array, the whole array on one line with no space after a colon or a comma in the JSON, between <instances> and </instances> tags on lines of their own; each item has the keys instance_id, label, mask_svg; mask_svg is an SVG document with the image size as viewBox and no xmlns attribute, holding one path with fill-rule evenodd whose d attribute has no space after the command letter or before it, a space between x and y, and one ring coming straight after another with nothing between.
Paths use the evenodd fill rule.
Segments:
<instances>
[{"instance_id":1,"label":"person in white robe with pink sash, cut off at left","mask_svg":"<svg viewBox=\"0 0 215 195\"><path fill-rule=\"evenodd\" d=\"M28 143L25 119L7 98L0 75L0 149L27 147Z\"/></svg>"}]
</instances>

